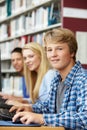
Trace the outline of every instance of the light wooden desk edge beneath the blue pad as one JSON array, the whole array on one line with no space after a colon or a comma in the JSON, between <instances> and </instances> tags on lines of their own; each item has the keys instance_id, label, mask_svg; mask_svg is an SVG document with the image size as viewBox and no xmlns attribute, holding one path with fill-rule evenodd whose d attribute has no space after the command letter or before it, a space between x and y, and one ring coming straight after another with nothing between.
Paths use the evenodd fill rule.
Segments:
<instances>
[{"instance_id":1,"label":"light wooden desk edge beneath the blue pad","mask_svg":"<svg viewBox=\"0 0 87 130\"><path fill-rule=\"evenodd\" d=\"M65 130L63 127L0 127L0 130Z\"/></svg>"}]
</instances>

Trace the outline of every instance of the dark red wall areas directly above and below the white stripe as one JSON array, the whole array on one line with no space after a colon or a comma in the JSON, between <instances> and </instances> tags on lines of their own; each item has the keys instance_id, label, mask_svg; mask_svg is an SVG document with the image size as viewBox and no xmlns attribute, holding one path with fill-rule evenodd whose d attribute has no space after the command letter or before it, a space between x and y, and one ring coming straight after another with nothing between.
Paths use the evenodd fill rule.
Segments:
<instances>
[{"instance_id":1,"label":"dark red wall areas directly above and below the white stripe","mask_svg":"<svg viewBox=\"0 0 87 130\"><path fill-rule=\"evenodd\" d=\"M63 0L63 7L87 9L87 0ZM69 28L73 31L87 32L87 18L63 17L63 27Z\"/></svg>"}]
</instances>

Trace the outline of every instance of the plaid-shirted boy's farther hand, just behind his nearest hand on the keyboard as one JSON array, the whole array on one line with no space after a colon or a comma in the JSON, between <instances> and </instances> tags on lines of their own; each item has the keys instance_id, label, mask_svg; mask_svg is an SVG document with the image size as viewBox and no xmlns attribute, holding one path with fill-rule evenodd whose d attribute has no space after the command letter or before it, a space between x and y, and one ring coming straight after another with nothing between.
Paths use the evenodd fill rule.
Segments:
<instances>
[{"instance_id":1,"label":"plaid-shirted boy's farther hand, just behind his nearest hand on the keyboard","mask_svg":"<svg viewBox=\"0 0 87 130\"><path fill-rule=\"evenodd\" d=\"M9 110L9 112L12 112L12 111L16 111L17 112L20 112L20 111L30 111L32 112L32 105L24 105L24 106L12 106Z\"/></svg>"}]
</instances>

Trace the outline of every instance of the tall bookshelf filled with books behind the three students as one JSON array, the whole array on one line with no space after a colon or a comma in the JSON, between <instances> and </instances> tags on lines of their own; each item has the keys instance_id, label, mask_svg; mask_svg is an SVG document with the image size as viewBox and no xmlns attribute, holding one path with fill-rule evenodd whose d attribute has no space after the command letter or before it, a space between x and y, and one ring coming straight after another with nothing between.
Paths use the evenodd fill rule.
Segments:
<instances>
[{"instance_id":1,"label":"tall bookshelf filled with books behind the three students","mask_svg":"<svg viewBox=\"0 0 87 130\"><path fill-rule=\"evenodd\" d=\"M4 15L3 15L4 12ZM15 47L37 41L47 30L61 27L61 0L1 0L0 48L2 88L12 84L15 70L11 66L11 51ZM17 80L17 79L16 79ZM10 87L10 89L13 89ZM8 91L8 90L7 90ZM11 93L11 92L10 92Z\"/></svg>"}]
</instances>

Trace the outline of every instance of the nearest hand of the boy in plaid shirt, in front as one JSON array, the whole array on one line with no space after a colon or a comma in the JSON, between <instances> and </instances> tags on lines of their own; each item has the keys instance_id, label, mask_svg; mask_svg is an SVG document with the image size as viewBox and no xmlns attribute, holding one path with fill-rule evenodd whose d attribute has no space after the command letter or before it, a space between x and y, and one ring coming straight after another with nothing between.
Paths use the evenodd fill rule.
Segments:
<instances>
[{"instance_id":1,"label":"nearest hand of the boy in plaid shirt, in front","mask_svg":"<svg viewBox=\"0 0 87 130\"><path fill-rule=\"evenodd\" d=\"M41 125L44 124L44 119L42 114L36 114L32 112L18 112L14 115L12 121L15 122L17 118L20 118L20 121L26 125L30 123L38 123Z\"/></svg>"}]
</instances>

